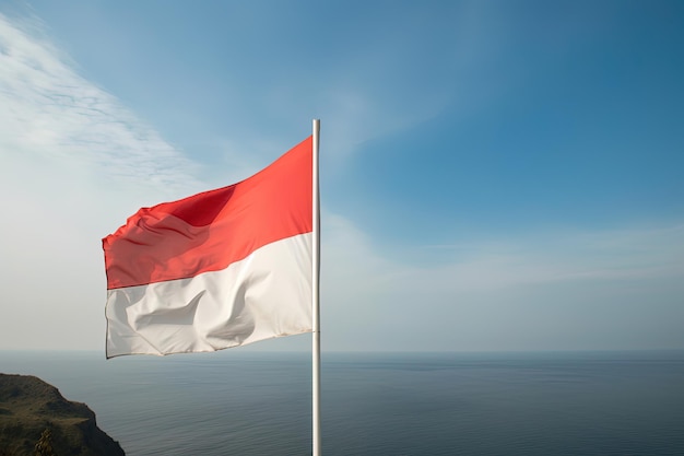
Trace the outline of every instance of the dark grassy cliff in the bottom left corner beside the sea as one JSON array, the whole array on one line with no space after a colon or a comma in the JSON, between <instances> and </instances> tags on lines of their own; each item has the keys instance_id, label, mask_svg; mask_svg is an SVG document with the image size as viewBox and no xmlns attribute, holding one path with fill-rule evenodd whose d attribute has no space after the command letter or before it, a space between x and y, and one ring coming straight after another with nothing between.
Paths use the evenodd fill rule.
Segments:
<instances>
[{"instance_id":1,"label":"dark grassy cliff in the bottom left corner beside the sea","mask_svg":"<svg viewBox=\"0 0 684 456\"><path fill-rule=\"evenodd\" d=\"M40 378L0 374L0 456L34 456L38 441L45 455L125 455L85 404L64 399Z\"/></svg>"}]
</instances>

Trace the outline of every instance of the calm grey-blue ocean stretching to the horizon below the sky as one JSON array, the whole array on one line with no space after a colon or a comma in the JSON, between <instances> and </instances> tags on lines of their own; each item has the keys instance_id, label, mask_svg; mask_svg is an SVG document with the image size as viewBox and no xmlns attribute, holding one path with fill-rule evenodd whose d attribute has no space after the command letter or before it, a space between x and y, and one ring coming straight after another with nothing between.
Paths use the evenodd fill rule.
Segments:
<instances>
[{"instance_id":1,"label":"calm grey-blue ocean stretching to the horizon below the sky","mask_svg":"<svg viewBox=\"0 0 684 456\"><path fill-rule=\"evenodd\" d=\"M310 454L308 353L0 351L129 456ZM326 353L322 452L684 455L684 352Z\"/></svg>"}]
</instances>

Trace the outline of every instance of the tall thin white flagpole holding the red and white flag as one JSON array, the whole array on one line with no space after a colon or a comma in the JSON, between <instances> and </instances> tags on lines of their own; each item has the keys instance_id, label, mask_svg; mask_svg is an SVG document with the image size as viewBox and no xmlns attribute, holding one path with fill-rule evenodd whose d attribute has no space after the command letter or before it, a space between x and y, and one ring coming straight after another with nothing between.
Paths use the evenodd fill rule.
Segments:
<instances>
[{"instance_id":1,"label":"tall thin white flagpole holding the red and white flag","mask_svg":"<svg viewBox=\"0 0 684 456\"><path fill-rule=\"evenodd\" d=\"M320 192L318 184L318 142L320 133L320 120L314 119L314 230L312 230L312 280L311 280L311 317L312 317L312 346L311 346L311 365L312 365L312 454L320 456L320 300L318 292L318 282L320 280Z\"/></svg>"}]
</instances>

